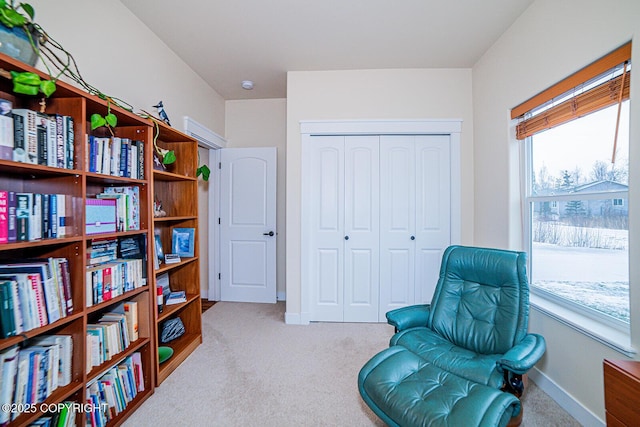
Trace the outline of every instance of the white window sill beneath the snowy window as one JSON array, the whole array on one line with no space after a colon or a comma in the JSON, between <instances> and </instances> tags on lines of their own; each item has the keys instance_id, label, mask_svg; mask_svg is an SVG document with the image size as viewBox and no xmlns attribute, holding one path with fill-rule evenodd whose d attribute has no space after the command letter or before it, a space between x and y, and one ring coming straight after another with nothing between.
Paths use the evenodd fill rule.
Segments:
<instances>
[{"instance_id":1,"label":"white window sill beneath the snowy window","mask_svg":"<svg viewBox=\"0 0 640 427\"><path fill-rule=\"evenodd\" d=\"M592 338L627 357L634 357L636 349L631 346L628 331L621 331L596 319L576 312L568 307L553 302L548 298L531 293L531 307L576 331Z\"/></svg>"}]
</instances>

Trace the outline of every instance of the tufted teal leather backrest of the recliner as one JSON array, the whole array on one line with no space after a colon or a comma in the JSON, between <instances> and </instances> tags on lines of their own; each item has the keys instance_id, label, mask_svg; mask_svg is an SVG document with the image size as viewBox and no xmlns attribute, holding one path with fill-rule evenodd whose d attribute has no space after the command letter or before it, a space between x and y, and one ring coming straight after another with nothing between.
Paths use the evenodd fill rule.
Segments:
<instances>
[{"instance_id":1,"label":"tufted teal leather backrest of the recliner","mask_svg":"<svg viewBox=\"0 0 640 427\"><path fill-rule=\"evenodd\" d=\"M451 246L442 257L429 327L453 344L502 354L527 333L524 252Z\"/></svg>"}]
</instances>

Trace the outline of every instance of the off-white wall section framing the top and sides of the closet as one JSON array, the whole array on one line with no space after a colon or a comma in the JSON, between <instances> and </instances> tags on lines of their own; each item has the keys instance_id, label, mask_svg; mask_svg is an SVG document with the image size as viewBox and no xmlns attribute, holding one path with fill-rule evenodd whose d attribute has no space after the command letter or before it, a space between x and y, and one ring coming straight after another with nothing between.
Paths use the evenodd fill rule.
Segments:
<instances>
[{"instance_id":1,"label":"off-white wall section framing the top and sides of the closet","mask_svg":"<svg viewBox=\"0 0 640 427\"><path fill-rule=\"evenodd\" d=\"M296 71L287 76L286 289L288 321L301 313L301 120L462 119L462 242L473 238L471 70Z\"/></svg>"}]
</instances>

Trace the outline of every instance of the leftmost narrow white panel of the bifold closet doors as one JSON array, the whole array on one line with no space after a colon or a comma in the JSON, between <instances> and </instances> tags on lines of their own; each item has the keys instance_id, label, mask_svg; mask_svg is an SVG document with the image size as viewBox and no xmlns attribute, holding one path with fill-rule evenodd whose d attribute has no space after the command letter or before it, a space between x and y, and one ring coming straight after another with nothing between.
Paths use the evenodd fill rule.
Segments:
<instances>
[{"instance_id":1,"label":"leftmost narrow white panel of the bifold closet doors","mask_svg":"<svg viewBox=\"0 0 640 427\"><path fill-rule=\"evenodd\" d=\"M344 304L344 137L319 136L306 147L304 215L311 320L342 321Z\"/></svg>"}]
</instances>

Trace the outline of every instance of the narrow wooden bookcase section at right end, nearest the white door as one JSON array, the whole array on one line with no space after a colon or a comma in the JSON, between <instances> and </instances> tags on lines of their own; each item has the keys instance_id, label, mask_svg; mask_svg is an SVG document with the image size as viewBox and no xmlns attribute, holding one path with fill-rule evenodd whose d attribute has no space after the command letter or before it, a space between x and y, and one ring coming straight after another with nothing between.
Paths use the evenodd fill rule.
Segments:
<instances>
[{"instance_id":1,"label":"narrow wooden bookcase section at right end, nearest the white door","mask_svg":"<svg viewBox=\"0 0 640 427\"><path fill-rule=\"evenodd\" d=\"M182 290L187 301L181 304L164 305L162 313L154 310L156 324L156 346L169 346L173 355L163 363L156 360L156 383L160 385L193 350L202 343L202 307L200 303L200 259L198 254L198 143L182 132L158 123L160 132L157 144L160 148L173 150L176 162L166 169L153 170L152 197L162 203L166 216L153 219L152 234L158 234L165 254L171 253L172 230L194 228L194 257L181 257L176 264L162 263L153 275L168 274L172 291ZM155 256L155 255L154 255ZM154 282L155 287L155 282ZM161 330L165 321L180 318L185 327L181 337L161 343ZM156 354L157 356L157 354Z\"/></svg>"}]
</instances>

